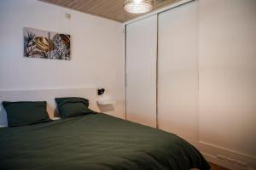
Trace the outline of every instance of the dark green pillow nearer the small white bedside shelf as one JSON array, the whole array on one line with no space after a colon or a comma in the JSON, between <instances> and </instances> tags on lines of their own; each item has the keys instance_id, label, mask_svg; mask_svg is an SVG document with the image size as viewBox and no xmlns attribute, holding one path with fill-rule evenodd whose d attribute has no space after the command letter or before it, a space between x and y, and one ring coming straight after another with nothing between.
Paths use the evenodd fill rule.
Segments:
<instances>
[{"instance_id":1,"label":"dark green pillow nearer the small white bedside shelf","mask_svg":"<svg viewBox=\"0 0 256 170\"><path fill-rule=\"evenodd\" d=\"M55 98L58 110L61 114L61 118L84 116L95 113L91 111L89 106L89 100L84 98Z\"/></svg>"}]
</instances>

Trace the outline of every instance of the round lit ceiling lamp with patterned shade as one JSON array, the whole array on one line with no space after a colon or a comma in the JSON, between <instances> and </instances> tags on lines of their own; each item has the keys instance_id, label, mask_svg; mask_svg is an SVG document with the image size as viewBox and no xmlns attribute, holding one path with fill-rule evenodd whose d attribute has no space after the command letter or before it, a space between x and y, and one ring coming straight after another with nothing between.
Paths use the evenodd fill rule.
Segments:
<instances>
[{"instance_id":1,"label":"round lit ceiling lamp with patterned shade","mask_svg":"<svg viewBox=\"0 0 256 170\"><path fill-rule=\"evenodd\" d=\"M154 0L124 0L125 11L132 14L147 13L153 8Z\"/></svg>"}]
</instances>

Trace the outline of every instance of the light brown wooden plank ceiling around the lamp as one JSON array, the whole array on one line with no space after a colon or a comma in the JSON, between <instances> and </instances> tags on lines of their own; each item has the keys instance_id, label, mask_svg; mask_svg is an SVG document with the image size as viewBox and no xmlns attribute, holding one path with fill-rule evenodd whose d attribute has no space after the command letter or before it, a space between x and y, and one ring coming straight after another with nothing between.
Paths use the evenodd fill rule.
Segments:
<instances>
[{"instance_id":1,"label":"light brown wooden plank ceiling around the lamp","mask_svg":"<svg viewBox=\"0 0 256 170\"><path fill-rule=\"evenodd\" d=\"M123 9L123 0L39 0L45 3L55 4L65 8L72 8L87 14L94 14L125 22L141 16L143 14L130 14ZM154 9L166 7L180 0L154 0Z\"/></svg>"}]
</instances>

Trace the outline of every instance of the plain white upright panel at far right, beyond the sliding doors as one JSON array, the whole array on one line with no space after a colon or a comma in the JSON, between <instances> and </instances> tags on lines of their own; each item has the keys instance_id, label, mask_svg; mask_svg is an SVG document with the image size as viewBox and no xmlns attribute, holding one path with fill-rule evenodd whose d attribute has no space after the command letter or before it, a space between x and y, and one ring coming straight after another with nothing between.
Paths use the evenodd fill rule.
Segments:
<instances>
[{"instance_id":1,"label":"plain white upright panel at far right, beyond the sliding doors","mask_svg":"<svg viewBox=\"0 0 256 170\"><path fill-rule=\"evenodd\" d=\"M201 141L255 163L255 0L200 1L199 61Z\"/></svg>"}]
</instances>

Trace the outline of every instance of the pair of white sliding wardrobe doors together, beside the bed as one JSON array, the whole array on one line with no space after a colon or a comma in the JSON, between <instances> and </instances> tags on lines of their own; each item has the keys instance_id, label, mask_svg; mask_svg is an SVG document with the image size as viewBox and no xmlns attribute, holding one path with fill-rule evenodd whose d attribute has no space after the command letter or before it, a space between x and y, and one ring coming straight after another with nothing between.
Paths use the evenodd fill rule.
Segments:
<instances>
[{"instance_id":1,"label":"pair of white sliding wardrobe doors together, beside the bed","mask_svg":"<svg viewBox=\"0 0 256 170\"><path fill-rule=\"evenodd\" d=\"M126 26L127 120L198 138L198 8L194 1Z\"/></svg>"}]
</instances>

